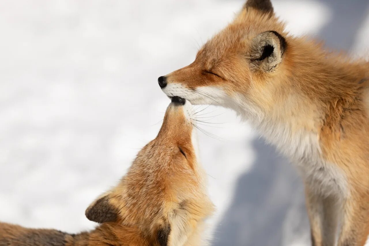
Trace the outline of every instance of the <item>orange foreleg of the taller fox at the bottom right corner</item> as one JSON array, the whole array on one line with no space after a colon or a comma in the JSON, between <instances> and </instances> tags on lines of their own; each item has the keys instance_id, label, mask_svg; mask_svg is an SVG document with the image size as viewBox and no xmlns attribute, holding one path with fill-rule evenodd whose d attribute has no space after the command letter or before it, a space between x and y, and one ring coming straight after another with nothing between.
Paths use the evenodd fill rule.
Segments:
<instances>
[{"instance_id":1,"label":"orange foreleg of the taller fox at the bottom right corner","mask_svg":"<svg viewBox=\"0 0 369 246\"><path fill-rule=\"evenodd\" d=\"M369 233L368 191L351 192L344 202L339 246L363 246Z\"/></svg>"}]
</instances>

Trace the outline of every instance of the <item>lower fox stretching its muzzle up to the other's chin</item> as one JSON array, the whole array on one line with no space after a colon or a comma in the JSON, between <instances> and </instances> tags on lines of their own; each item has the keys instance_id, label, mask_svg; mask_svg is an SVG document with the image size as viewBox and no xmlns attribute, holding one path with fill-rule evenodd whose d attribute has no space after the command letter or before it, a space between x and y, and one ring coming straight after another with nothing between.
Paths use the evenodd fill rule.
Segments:
<instances>
[{"instance_id":1,"label":"lower fox stretching its muzzle up to the other's chin","mask_svg":"<svg viewBox=\"0 0 369 246\"><path fill-rule=\"evenodd\" d=\"M197 161L191 104L174 97L156 139L139 151L128 173L86 210L101 223L91 232L67 234L0 223L0 246L197 246L213 212Z\"/></svg>"}]
</instances>

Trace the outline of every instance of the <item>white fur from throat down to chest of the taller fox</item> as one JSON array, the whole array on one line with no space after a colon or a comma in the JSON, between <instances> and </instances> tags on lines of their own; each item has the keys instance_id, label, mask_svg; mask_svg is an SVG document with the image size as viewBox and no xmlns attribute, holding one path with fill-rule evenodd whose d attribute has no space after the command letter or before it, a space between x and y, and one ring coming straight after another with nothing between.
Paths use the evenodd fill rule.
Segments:
<instances>
[{"instance_id":1,"label":"white fur from throat down to chest of the taller fox","mask_svg":"<svg viewBox=\"0 0 369 246\"><path fill-rule=\"evenodd\" d=\"M337 165L327 163L323 159L318 134L301 127L308 119L298 120L291 117L290 122L282 122L278 115L262 113L263 110L259 109L256 103L251 104L250 100L242 96L236 96L226 102L228 107L236 110L268 143L276 146L277 150L297 166L310 191L322 196L335 194L342 197L348 194L344 172ZM283 115L287 113L283 112Z\"/></svg>"}]
</instances>

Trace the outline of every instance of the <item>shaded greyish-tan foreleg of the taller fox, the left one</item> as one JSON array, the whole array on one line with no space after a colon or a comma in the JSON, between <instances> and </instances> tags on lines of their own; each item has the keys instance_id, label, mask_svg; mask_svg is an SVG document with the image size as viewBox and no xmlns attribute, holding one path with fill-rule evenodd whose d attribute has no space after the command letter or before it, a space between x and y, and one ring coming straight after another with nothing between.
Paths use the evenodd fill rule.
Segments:
<instances>
[{"instance_id":1,"label":"shaded greyish-tan foreleg of the taller fox, the left one","mask_svg":"<svg viewBox=\"0 0 369 246\"><path fill-rule=\"evenodd\" d=\"M339 206L335 196L322 197L306 189L306 207L310 219L311 245L334 246Z\"/></svg>"}]
</instances>

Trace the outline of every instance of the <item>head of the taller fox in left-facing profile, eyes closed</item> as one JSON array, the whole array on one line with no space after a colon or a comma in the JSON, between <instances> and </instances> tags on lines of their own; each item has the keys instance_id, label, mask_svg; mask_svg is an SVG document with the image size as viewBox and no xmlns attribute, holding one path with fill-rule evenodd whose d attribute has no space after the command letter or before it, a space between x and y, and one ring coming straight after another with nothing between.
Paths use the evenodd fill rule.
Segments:
<instances>
[{"instance_id":1,"label":"head of the taller fox in left-facing profile, eyes closed","mask_svg":"<svg viewBox=\"0 0 369 246\"><path fill-rule=\"evenodd\" d=\"M235 20L197 52L192 64L159 77L159 86L167 96L193 104L239 107L239 102L248 102L243 108L255 111L273 102L288 62L285 36L269 0L248 0Z\"/></svg>"}]
</instances>

